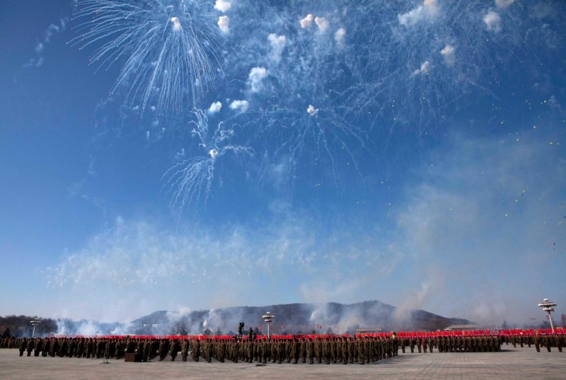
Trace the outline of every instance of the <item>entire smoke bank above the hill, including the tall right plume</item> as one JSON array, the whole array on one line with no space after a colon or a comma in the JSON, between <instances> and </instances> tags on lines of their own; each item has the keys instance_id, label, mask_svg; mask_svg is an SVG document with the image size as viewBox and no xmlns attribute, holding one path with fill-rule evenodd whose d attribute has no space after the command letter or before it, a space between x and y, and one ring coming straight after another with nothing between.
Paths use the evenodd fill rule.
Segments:
<instances>
[{"instance_id":1,"label":"entire smoke bank above the hill, including the tall right plume","mask_svg":"<svg viewBox=\"0 0 566 380\"><path fill-rule=\"evenodd\" d=\"M536 133L521 135L521 142L449 139L448 149L432 155L434 168L416 171L418 177L392 207L387 234L381 224L321 229L308 212L305 217L277 205L275 222L214 226L221 233L198 226L161 228L151 217L151 223L119 218L46 271L50 307L110 318L105 306L112 304L113 318L131 318L178 308L186 304L187 291L193 309L208 308L218 298L223 303L218 307L246 304L251 292L256 304L269 304L274 302L269 284L277 284L288 290L286 301L362 297L398 305L407 299L400 305L405 309L521 321L533 308L531 300L540 297L535 284L566 286L560 251L566 246L560 205L566 162ZM296 272L290 275L289 267ZM533 267L545 267L540 281L526 276ZM524 292L514 299L518 288ZM497 312L482 306L487 293L490 302L497 301Z\"/></svg>"}]
</instances>

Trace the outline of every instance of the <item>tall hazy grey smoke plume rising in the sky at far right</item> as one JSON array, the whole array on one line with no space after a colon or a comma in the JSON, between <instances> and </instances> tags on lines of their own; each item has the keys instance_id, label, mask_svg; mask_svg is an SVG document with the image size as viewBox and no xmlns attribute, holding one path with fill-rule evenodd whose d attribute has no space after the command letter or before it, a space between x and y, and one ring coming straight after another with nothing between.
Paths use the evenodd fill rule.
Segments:
<instances>
[{"instance_id":1,"label":"tall hazy grey smoke plume rising in the sky at far right","mask_svg":"<svg viewBox=\"0 0 566 380\"><path fill-rule=\"evenodd\" d=\"M410 284L400 298L410 299L407 307L481 318L473 319L478 322L500 323L504 316L526 321L531 300L541 297L535 285L540 280L533 278L528 281L533 287L525 286L516 273L545 263L566 265L555 248L566 246L566 234L560 232L566 219L560 205L566 177L555 175L566 173L566 162L556 160L548 137L537 133L524 132L519 142L515 136L457 138L434 167L422 172L422 182L410 186L398 223L407 238L403 251L412 255L412 269L407 270L420 275L407 279ZM401 243L403 237L396 240ZM558 275L558 268L554 272ZM509 290L519 288L520 296ZM485 301L487 293L502 309L487 313L471 306Z\"/></svg>"}]
</instances>

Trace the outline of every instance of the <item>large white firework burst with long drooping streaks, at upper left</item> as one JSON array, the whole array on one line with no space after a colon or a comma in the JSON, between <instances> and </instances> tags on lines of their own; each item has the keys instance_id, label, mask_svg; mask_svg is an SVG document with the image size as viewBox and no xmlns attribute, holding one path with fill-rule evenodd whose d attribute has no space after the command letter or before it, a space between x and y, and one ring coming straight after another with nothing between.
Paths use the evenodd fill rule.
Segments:
<instances>
[{"instance_id":1,"label":"large white firework burst with long drooping streaks, at upper left","mask_svg":"<svg viewBox=\"0 0 566 380\"><path fill-rule=\"evenodd\" d=\"M72 45L94 47L91 63L122 64L113 91L143 113L190 110L220 71L219 11L201 0L79 0Z\"/></svg>"}]
</instances>

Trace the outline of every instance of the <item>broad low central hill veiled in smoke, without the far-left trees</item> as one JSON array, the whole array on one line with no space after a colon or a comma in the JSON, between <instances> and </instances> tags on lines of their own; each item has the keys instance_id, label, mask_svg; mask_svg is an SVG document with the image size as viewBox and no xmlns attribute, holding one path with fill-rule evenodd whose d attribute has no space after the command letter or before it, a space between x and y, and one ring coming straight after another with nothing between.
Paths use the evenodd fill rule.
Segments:
<instances>
[{"instance_id":1,"label":"broad low central hill veiled in smoke, without the far-left trees","mask_svg":"<svg viewBox=\"0 0 566 380\"><path fill-rule=\"evenodd\" d=\"M270 311L275 315L272 327L279 333L301 333L315 330L325 333L354 332L357 328L381 328L383 330L437 330L453 324L470 323L466 319L446 318L424 310L400 313L394 306L380 301L364 301L357 304L279 304L270 306L236 306L225 309L200 310L180 315L168 311L156 311L132 321L135 333L234 333L238 323L258 328L264 325L262 314Z\"/></svg>"}]
</instances>

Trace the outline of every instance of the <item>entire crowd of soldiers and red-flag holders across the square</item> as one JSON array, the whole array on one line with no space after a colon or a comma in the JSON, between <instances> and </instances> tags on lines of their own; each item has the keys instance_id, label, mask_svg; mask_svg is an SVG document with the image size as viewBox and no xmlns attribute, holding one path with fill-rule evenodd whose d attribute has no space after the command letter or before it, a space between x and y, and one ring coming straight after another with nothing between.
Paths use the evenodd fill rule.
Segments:
<instances>
[{"instance_id":1,"label":"entire crowd of soldiers and red-flag holders across the square","mask_svg":"<svg viewBox=\"0 0 566 380\"><path fill-rule=\"evenodd\" d=\"M137 354L142 362L175 360L180 355L199 362L358 363L366 364L414 352L500 352L502 345L533 345L537 352L552 347L562 352L566 333L545 330L402 332L356 335L166 335L0 339L1 348L17 349L20 356L124 359Z\"/></svg>"}]
</instances>

